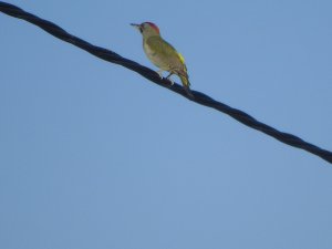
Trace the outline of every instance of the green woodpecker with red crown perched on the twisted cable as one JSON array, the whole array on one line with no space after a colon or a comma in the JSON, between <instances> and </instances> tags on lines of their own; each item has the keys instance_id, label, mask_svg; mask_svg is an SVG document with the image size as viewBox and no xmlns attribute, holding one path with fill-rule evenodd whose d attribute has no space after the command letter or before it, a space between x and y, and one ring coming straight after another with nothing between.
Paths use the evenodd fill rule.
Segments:
<instances>
[{"instance_id":1,"label":"green woodpecker with red crown perched on the twisted cable","mask_svg":"<svg viewBox=\"0 0 332 249\"><path fill-rule=\"evenodd\" d=\"M142 33L144 52L146 56L159 68L157 73L160 77L163 77L164 71L168 71L169 74L166 79L174 83L169 77L176 74L181 80L187 94L194 97L189 89L190 83L185 59L173 45L160 37L158 27L152 22L143 22L142 24L132 23L132 25Z\"/></svg>"}]
</instances>

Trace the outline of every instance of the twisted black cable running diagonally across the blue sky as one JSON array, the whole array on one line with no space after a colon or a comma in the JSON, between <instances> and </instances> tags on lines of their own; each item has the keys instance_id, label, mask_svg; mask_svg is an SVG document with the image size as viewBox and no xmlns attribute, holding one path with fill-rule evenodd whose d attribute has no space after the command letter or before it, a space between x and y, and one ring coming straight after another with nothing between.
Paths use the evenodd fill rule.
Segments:
<instances>
[{"instance_id":1,"label":"twisted black cable running diagonally across the blue sky","mask_svg":"<svg viewBox=\"0 0 332 249\"><path fill-rule=\"evenodd\" d=\"M23 19L28 22L31 22L31 23L40 27L48 33L50 33L65 42L69 42L75 46L79 46L82 50L85 50L86 52L89 52L100 59L103 59L105 61L108 61L108 62L112 62L115 64L120 64L132 71L135 71L135 72L139 73L142 76L148 79L149 81L152 81L163 87L167 87L170 91L176 92L193 102L218 110L219 112L222 112L222 113L234 117L238 122L240 122L251 128L255 128L264 134L268 134L269 136L272 136L276 139L282 142L284 144L288 144L293 147L298 147L298 148L304 149L309 153L312 153L332 164L332 153L331 152L329 152L326 149L322 149L322 148L320 148L313 144L310 144L308 142L304 142L300 137L294 136L292 134L280 132L267 124L263 124L263 123L257 121L256 118L253 118L252 116L248 115L247 113L245 113L240 110L232 108L226 104L215 101L214 98L209 97L208 95L206 95L204 93L193 91L195 98L191 100L190 97L187 96L186 92L179 84L174 84L173 86L170 86L170 82L165 79L160 79L159 75L155 71L153 71L144 65L141 65L137 62L134 62L126 58L123 58L123 56L118 55L117 53L114 53L113 51L93 45L75 35L68 33L65 30L61 29L59 25L56 25L50 21L40 19L40 18L35 17L34 14L28 13L15 6L12 6L12 4L6 3L6 2L1 2L1 1L0 1L0 11L2 11L6 14L9 14L11 17Z\"/></svg>"}]
</instances>

